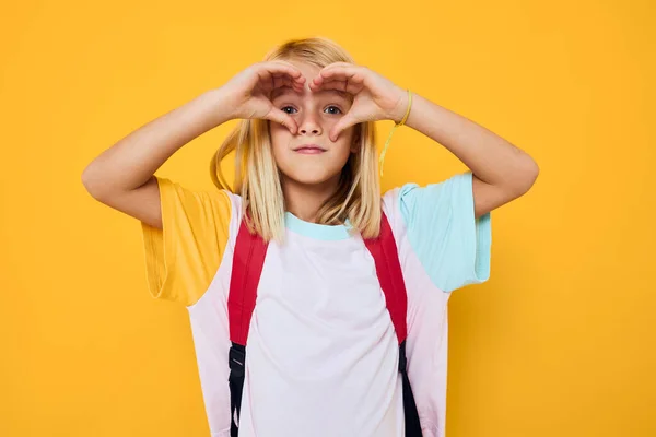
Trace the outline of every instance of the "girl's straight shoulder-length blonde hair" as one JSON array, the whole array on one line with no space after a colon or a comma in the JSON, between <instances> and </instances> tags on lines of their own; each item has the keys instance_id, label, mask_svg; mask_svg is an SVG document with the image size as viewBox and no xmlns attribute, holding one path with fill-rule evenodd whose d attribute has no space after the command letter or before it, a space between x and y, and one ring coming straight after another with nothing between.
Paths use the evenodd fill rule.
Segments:
<instances>
[{"instance_id":1,"label":"girl's straight shoulder-length blonde hair","mask_svg":"<svg viewBox=\"0 0 656 437\"><path fill-rule=\"evenodd\" d=\"M270 60L297 60L324 68L332 62L354 63L335 42L324 37L291 39L265 57ZM269 135L269 121L241 120L212 157L210 176L214 185L242 197L242 212L251 233L266 241L282 241L284 197ZM320 208L317 223L339 225L348 220L363 238L377 237L380 227L380 184L373 121L355 126L356 152L344 165L338 189ZM221 162L235 152L234 188L226 182Z\"/></svg>"}]
</instances>

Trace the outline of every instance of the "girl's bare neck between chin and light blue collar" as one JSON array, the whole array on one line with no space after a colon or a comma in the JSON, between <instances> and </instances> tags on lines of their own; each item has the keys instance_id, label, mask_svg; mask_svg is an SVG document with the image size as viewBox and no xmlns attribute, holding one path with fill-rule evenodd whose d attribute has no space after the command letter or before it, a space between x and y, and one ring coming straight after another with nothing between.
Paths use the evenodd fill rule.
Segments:
<instances>
[{"instance_id":1,"label":"girl's bare neck between chin and light blue collar","mask_svg":"<svg viewBox=\"0 0 656 437\"><path fill-rule=\"evenodd\" d=\"M283 177L285 210L305 222L316 223L319 208L339 185L339 175L321 184L305 185Z\"/></svg>"}]
</instances>

